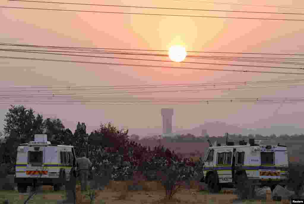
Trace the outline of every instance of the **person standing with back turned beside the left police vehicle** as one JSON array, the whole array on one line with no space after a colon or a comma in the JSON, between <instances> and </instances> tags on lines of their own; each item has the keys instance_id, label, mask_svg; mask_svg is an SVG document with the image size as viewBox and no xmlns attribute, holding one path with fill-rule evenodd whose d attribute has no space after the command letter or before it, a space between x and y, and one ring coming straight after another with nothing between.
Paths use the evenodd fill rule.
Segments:
<instances>
[{"instance_id":1,"label":"person standing with back turned beside the left police vehicle","mask_svg":"<svg viewBox=\"0 0 304 204\"><path fill-rule=\"evenodd\" d=\"M80 158L76 159L76 164L79 170L79 179L81 183L81 191L86 191L88 186L89 169L92 168L91 161L85 157L85 153L80 153Z\"/></svg>"}]
</instances>

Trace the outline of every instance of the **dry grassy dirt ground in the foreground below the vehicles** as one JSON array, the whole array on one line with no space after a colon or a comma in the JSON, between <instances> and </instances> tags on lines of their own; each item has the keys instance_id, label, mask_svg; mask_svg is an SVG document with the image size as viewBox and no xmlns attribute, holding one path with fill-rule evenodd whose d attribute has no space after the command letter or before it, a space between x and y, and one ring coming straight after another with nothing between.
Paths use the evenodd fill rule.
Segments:
<instances>
[{"instance_id":1,"label":"dry grassy dirt ground in the foreground below the vehicles","mask_svg":"<svg viewBox=\"0 0 304 204\"><path fill-rule=\"evenodd\" d=\"M126 190L126 182L111 182L103 191L96 191L95 204L162 204L162 203L185 203L185 204L232 204L232 203L254 203L254 204L289 204L289 201L275 202L271 200L268 192L267 200L238 201L237 195L231 190L223 190L218 194L209 194L206 190L199 191L198 186L182 188L171 201L164 200L164 188L157 182L145 182L143 191ZM80 186L76 187L77 204L89 204L88 196L80 193ZM0 191L0 203L9 199L10 204L23 204L28 198L28 193L17 191ZM42 192L29 200L29 204L57 204L58 200L65 199L65 192L54 192L51 186L43 186Z\"/></svg>"}]
</instances>

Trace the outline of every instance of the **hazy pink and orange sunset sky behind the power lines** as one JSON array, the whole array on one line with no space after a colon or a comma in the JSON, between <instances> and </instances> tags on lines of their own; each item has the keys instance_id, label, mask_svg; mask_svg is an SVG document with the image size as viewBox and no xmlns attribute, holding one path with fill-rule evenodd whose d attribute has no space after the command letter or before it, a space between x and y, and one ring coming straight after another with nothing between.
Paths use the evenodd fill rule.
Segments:
<instances>
[{"instance_id":1,"label":"hazy pink and orange sunset sky behind the power lines","mask_svg":"<svg viewBox=\"0 0 304 204\"><path fill-rule=\"evenodd\" d=\"M209 0L211 2L213 0ZM268 0L214 0L216 4L199 0L167 1L54 1L87 4L133 5L147 7L171 7L188 9L238 10L258 12L304 13L304 2ZM219 4L231 3L231 4ZM237 5L242 4L242 5ZM244 5L246 4L246 5ZM279 5L280 4L280 5ZM304 19L303 15L253 14L231 12L207 12L166 9L139 9L102 7L89 5L64 5L30 2L2 1L2 6L34 7L48 9L91 10L107 12L140 12L155 14L176 14L194 16L226 16L275 19ZM251 5L251 6L248 6ZM277 8L302 7L302 9ZM303 21L220 19L180 16L148 16L131 14L105 14L91 12L64 12L30 9L0 8L0 43L18 43L43 46L125 48L143 50L169 50L173 45L181 45L186 51L250 52L250 53L291 53L303 54ZM18 48L6 47L1 48ZM20 49L20 48L18 48ZM26 49L26 48L23 48ZM168 53L159 53L168 54ZM189 54L189 52L188 52ZM190 53L193 54L193 53ZM119 60L109 58L57 56L48 54L14 53L1 51L1 56L35 57L59 60L108 62L119 64L149 64L177 67L197 67L212 69L234 69L254 71L301 72L278 68L235 67L178 62L153 62ZM197 55L207 55L200 53ZM101 55L102 56L102 55ZM220 56L228 56L221 54ZM232 56L230 54L229 56ZM237 55L233 55L237 56ZM240 56L240 55L239 55ZM242 55L244 56L244 55ZM114 55L112 56L114 57ZM117 56L115 56L117 57ZM130 57L130 56L119 56ZM133 56L132 56L133 57ZM137 58L170 60L169 57ZM261 57L259 55L258 57ZM262 56L265 57L265 56ZM274 56L271 56L274 57ZM277 57L277 56L276 56ZM282 56L281 56L282 57ZM290 56L283 56L290 57ZM297 56L299 57L299 56ZM302 56L303 57L303 56ZM189 59L185 61L224 64L250 64L264 66L298 67L303 65L267 64L253 62L215 61ZM68 62L30 61L0 58L0 86L114 86L114 85L154 85L222 83L239 81L271 81L302 79L303 75L241 73L230 71L196 71L190 69L149 68L114 66L104 64L78 64ZM304 71L303 71L304 73ZM253 85L255 86L255 85ZM297 88L257 88L251 90L201 91L179 93L129 94L128 97L179 97L179 98L262 98L262 97L303 97L303 86ZM107 95L105 97L114 97ZM119 95L122 97L122 95ZM13 103L12 103L13 104ZM18 104L15 104L18 105ZM32 107L43 118L56 117L63 124L75 130L77 122L85 122L88 132L100 123L112 122L119 128L129 128L130 134L136 128L159 128L161 133L161 108L174 109L173 126L184 129L194 128L205 122L222 121L241 127L260 128L270 125L302 127L304 103L297 104L254 104L216 103L201 105L25 105ZM0 119L3 121L9 105L0 104ZM292 115L293 114L293 115ZM0 131L4 121L0 123ZM148 130L147 130L148 131ZM174 131L174 129L173 129Z\"/></svg>"}]
</instances>

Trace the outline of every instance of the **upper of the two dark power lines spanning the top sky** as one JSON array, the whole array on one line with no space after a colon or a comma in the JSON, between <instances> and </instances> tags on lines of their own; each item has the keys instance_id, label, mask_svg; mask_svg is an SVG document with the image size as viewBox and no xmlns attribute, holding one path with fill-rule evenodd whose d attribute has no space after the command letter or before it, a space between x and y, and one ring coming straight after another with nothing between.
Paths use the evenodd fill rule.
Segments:
<instances>
[{"instance_id":1,"label":"upper of the two dark power lines spanning the top sky","mask_svg":"<svg viewBox=\"0 0 304 204\"><path fill-rule=\"evenodd\" d=\"M304 14L304 13L287 13L287 12L256 12L256 11L211 10L211 9L185 9L185 8L126 6L126 5L105 5L105 4L85 4L85 3L67 3L67 2L45 2L45 1L27 1L27 0L8 0L8 1L14 1L14 2L32 2L32 3L51 3L51 4L69 4L69 5L109 6L109 7L139 8L139 9L170 9L170 10L188 10L188 11L216 11L216 12L240 12L240 13L263 13L263 14L294 14L294 15L303 15Z\"/></svg>"}]
</instances>

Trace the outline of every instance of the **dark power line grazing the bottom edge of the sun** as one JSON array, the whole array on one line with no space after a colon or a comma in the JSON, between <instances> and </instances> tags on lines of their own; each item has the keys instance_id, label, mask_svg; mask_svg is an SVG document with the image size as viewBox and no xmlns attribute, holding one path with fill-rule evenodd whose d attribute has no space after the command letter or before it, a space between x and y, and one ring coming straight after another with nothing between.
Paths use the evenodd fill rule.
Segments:
<instances>
[{"instance_id":1,"label":"dark power line grazing the bottom edge of the sun","mask_svg":"<svg viewBox=\"0 0 304 204\"><path fill-rule=\"evenodd\" d=\"M10 49L0 49L0 51L12 51L12 52L25 52L25 53L38 53L38 54L54 54L54 55L66 55L66 56L77 56L77 57L95 57L95 58L109 58L109 59L123 59L123 60L139 60L139 61L154 61L154 62L172 62L168 60L151 60L151 59L138 59L138 58L124 58L124 57L102 57L102 56L93 56L93 55L76 55L76 54L59 54L59 53L46 53L46 52L31 52L23 50L10 50ZM275 67L275 66L258 66L258 65L245 65L245 64L219 64L219 63L205 63L205 62L185 62L180 63L188 64L209 64L209 65L221 65L221 66L238 66L238 67L259 67L259 68L281 68L281 69L300 69L304 68L297 67ZM278 62L277 62L278 63Z\"/></svg>"}]
</instances>

